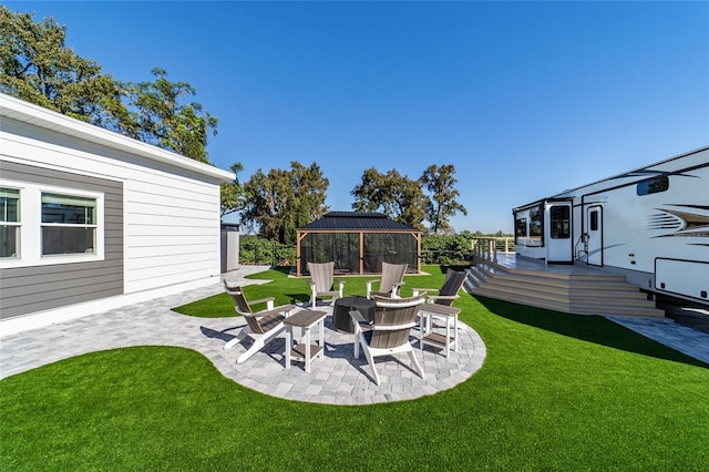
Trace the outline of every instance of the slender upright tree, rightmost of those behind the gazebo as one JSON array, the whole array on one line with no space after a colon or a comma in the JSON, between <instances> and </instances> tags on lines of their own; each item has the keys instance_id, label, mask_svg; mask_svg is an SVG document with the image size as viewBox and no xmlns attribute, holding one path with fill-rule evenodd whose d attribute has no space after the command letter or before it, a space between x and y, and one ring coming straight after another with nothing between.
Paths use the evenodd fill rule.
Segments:
<instances>
[{"instance_id":1,"label":"slender upright tree, rightmost of those behind the gazebo","mask_svg":"<svg viewBox=\"0 0 709 472\"><path fill-rule=\"evenodd\" d=\"M467 209L455 197L460 195L454 188L458 179L453 177L455 166L453 164L438 166L430 165L419 179L427 191L431 193L427 207L427 220L432 234L445 233L450 229L450 217L458 212L467 215Z\"/></svg>"}]
</instances>

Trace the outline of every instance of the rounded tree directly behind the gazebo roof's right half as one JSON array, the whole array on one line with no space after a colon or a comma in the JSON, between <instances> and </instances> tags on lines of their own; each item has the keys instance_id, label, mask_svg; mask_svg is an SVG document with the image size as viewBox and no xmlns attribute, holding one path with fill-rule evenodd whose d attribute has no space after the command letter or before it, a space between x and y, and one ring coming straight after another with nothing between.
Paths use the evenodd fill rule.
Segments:
<instances>
[{"instance_id":1,"label":"rounded tree directly behind the gazebo roof's right half","mask_svg":"<svg viewBox=\"0 0 709 472\"><path fill-rule=\"evenodd\" d=\"M418 181L411 181L395 170L381 174L374 167L362 174L362 182L350 192L357 212L380 212L390 218L422 228L427 198Z\"/></svg>"}]
</instances>

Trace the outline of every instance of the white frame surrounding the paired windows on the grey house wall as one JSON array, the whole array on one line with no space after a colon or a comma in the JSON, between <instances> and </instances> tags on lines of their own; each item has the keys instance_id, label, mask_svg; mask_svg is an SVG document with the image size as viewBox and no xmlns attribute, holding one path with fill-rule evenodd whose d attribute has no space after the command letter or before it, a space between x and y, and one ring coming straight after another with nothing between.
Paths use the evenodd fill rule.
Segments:
<instances>
[{"instance_id":1,"label":"white frame surrounding the paired windows on the grey house wall","mask_svg":"<svg viewBox=\"0 0 709 472\"><path fill-rule=\"evenodd\" d=\"M0 179L1 187L20 189L20 253L19 257L0 258L0 268L49 266L104 260L105 247L105 194L75 187ZM59 194L95 199L94 252L74 254L42 254L42 194ZM75 227L75 226L74 226ZM82 225L83 227L83 225Z\"/></svg>"}]
</instances>

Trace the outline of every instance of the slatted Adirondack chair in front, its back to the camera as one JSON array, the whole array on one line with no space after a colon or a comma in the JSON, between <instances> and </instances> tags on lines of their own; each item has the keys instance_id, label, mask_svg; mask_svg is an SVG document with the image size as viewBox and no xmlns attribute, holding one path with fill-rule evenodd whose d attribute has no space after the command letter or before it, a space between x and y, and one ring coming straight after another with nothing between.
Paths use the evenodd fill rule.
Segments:
<instances>
[{"instance_id":1,"label":"slatted Adirondack chair in front, its back to the camera","mask_svg":"<svg viewBox=\"0 0 709 472\"><path fill-rule=\"evenodd\" d=\"M425 301L425 294L412 298L376 297L374 319L367 321L359 311L350 311L354 325L354 358L359 359L361 346L367 362L372 368L374 383L380 384L374 358L408 353L415 371L424 378L423 368L409 341L411 328L417 326L419 308Z\"/></svg>"}]
</instances>

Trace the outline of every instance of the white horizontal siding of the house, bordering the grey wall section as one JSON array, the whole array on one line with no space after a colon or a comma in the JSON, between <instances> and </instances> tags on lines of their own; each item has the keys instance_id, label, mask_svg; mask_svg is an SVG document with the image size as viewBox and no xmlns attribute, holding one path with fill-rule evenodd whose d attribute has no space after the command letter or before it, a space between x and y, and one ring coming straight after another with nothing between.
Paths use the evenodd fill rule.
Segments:
<instances>
[{"instance_id":1,"label":"white horizontal siding of the house, bordering the grey wall section","mask_svg":"<svg viewBox=\"0 0 709 472\"><path fill-rule=\"evenodd\" d=\"M124 290L219 275L219 182L214 176L3 119L3 158L124 183ZM101 130L103 132L103 130Z\"/></svg>"}]
</instances>

